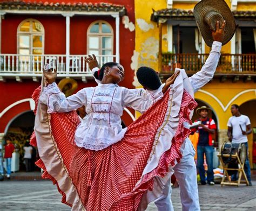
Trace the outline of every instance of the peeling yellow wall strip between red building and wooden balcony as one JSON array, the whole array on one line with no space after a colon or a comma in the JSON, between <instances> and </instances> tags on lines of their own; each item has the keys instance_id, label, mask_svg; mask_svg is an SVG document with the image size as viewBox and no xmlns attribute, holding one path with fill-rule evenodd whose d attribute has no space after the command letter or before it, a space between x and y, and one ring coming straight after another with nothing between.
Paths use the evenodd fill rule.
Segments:
<instances>
[{"instance_id":1,"label":"peeling yellow wall strip between red building and wooden balcony","mask_svg":"<svg viewBox=\"0 0 256 211\"><path fill-rule=\"evenodd\" d=\"M166 1L143 1L135 0L135 51L132 57L131 68L134 70L134 86L139 86L136 79L136 70L141 66L149 66L158 71L158 46L159 28L155 22L150 20L152 9L160 10L166 8ZM166 29L163 33L167 33ZM166 41L165 41L166 42ZM163 46L166 46L167 43ZM136 64L136 65L135 65Z\"/></svg>"}]
</instances>

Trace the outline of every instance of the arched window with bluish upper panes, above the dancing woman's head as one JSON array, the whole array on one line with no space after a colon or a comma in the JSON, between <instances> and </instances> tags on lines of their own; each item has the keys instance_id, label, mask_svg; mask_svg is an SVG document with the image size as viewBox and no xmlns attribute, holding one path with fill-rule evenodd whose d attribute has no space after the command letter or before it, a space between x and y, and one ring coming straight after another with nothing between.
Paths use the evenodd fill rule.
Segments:
<instances>
[{"instance_id":1,"label":"arched window with bluish upper panes, above the dancing woman's head","mask_svg":"<svg viewBox=\"0 0 256 211\"><path fill-rule=\"evenodd\" d=\"M99 58L100 64L112 61L113 55L113 29L103 20L92 23L87 31L87 53ZM109 57L108 57L109 55Z\"/></svg>"}]
</instances>

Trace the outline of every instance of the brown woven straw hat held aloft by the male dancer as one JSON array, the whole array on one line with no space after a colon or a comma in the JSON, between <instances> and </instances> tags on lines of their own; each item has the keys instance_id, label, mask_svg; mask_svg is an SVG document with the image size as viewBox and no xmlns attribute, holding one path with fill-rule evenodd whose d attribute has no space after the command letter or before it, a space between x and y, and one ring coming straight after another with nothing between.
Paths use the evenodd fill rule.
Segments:
<instances>
[{"instance_id":1,"label":"brown woven straw hat held aloft by the male dancer","mask_svg":"<svg viewBox=\"0 0 256 211\"><path fill-rule=\"evenodd\" d=\"M224 0L202 0L194 7L194 17L205 43L210 47L213 43L211 29L216 30L217 20L220 27L226 20L223 45L228 43L235 33L235 19Z\"/></svg>"}]
</instances>

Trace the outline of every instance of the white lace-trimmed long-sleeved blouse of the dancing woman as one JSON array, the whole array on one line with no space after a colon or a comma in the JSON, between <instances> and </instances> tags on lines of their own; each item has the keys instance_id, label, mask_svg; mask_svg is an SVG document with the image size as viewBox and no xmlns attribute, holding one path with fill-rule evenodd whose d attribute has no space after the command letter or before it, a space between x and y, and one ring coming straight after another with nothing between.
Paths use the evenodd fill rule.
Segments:
<instances>
[{"instance_id":1,"label":"white lace-trimmed long-sleeved blouse of the dancing woman","mask_svg":"<svg viewBox=\"0 0 256 211\"><path fill-rule=\"evenodd\" d=\"M48 112L68 112L85 106L86 121L82 121L75 133L77 146L90 150L102 150L124 137L127 128L122 129L121 116L125 107L144 112L163 93L158 90L127 89L112 83L99 83L97 87L79 90L65 97L56 83L44 87L40 101L48 105Z\"/></svg>"}]
</instances>

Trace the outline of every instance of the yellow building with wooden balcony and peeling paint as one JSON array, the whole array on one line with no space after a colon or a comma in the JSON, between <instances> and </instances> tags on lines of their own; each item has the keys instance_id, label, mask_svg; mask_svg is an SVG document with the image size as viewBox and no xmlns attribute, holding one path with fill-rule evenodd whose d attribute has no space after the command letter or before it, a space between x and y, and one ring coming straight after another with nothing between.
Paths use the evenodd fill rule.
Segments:
<instances>
[{"instance_id":1,"label":"yellow building with wooden balcony and peeling paint","mask_svg":"<svg viewBox=\"0 0 256 211\"><path fill-rule=\"evenodd\" d=\"M188 75L200 70L210 48L197 29L193 8L199 1L135 0L136 47L131 67L150 66L164 80L175 67ZM199 106L213 110L218 133L215 146L227 140L227 121L232 104L240 106L254 128L248 136L251 165L253 138L256 142L256 1L226 0L238 25L232 40L223 46L213 80L195 98ZM134 86L139 86L134 77ZM193 119L198 118L196 114ZM255 161L254 161L255 162Z\"/></svg>"}]
</instances>

